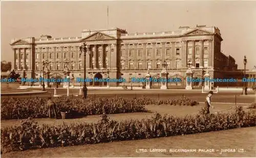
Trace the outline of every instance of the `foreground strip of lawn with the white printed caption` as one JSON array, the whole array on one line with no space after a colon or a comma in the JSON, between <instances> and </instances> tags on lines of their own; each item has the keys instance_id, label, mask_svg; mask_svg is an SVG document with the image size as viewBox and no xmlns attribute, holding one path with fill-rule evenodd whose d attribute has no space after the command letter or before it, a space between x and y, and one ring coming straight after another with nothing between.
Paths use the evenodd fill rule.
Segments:
<instances>
[{"instance_id":1,"label":"foreground strip of lawn with the white printed caption","mask_svg":"<svg viewBox=\"0 0 256 158\"><path fill-rule=\"evenodd\" d=\"M209 133L173 136L166 138L121 141L70 147L46 148L9 152L2 157L255 157L256 127L211 131ZM150 149L197 149L197 152L149 152ZM138 149L148 152L139 153ZM198 152L198 149L215 149L215 152ZM236 149L224 152L221 149ZM244 149L244 152L238 152ZM219 150L219 151L216 151Z\"/></svg>"}]
</instances>

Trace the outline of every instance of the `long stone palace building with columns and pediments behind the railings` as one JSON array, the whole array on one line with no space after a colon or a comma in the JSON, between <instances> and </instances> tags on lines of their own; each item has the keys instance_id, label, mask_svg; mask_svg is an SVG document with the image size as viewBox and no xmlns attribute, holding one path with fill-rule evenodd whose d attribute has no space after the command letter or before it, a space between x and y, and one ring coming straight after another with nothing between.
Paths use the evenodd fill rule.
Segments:
<instances>
[{"instance_id":1,"label":"long stone palace building with columns and pediments behind the railings","mask_svg":"<svg viewBox=\"0 0 256 158\"><path fill-rule=\"evenodd\" d=\"M82 30L81 37L53 38L50 35L15 38L11 41L12 69L28 78L42 76L45 72L52 77L70 74L83 77L84 57L79 46L84 42L89 48L86 55L86 76L88 78L125 78L126 82L113 82L112 86L134 84L132 77L161 76L163 66L168 77L182 78L180 83L170 86L185 86L188 67L194 78L202 78L208 71L210 78L232 77L237 64L231 56L221 52L222 41L217 27L179 27L176 31L152 33L127 33L126 30L102 29ZM70 76L71 76L70 75ZM78 84L78 83L76 83ZM105 83L90 82L88 86L106 86ZM156 84L155 84L156 85ZM202 83L195 83L201 86Z\"/></svg>"}]
</instances>

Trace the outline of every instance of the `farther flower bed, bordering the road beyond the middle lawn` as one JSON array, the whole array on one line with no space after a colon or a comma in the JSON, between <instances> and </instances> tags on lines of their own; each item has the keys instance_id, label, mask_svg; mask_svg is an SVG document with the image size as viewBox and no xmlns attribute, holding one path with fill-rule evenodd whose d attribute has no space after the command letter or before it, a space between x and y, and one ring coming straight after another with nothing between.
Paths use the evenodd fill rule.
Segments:
<instances>
[{"instance_id":1,"label":"farther flower bed, bordering the road beyond the middle lawn","mask_svg":"<svg viewBox=\"0 0 256 158\"><path fill-rule=\"evenodd\" d=\"M72 111L74 115L97 115L147 112L146 104L167 104L180 106L195 106L198 103L188 98L158 100L154 98L53 98L57 105L58 117L60 111ZM1 100L1 119L47 118L47 99L41 98L11 98Z\"/></svg>"}]
</instances>

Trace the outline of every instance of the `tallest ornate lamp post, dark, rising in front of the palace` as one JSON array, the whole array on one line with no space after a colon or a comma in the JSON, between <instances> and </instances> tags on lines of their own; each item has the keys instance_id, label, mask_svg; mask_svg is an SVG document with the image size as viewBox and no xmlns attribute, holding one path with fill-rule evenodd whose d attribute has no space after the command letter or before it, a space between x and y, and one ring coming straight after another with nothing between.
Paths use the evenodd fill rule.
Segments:
<instances>
[{"instance_id":1,"label":"tallest ornate lamp post, dark, rising in front of the palace","mask_svg":"<svg viewBox=\"0 0 256 158\"><path fill-rule=\"evenodd\" d=\"M86 45L86 42L84 42L81 46L79 46L79 49L80 49L80 54L83 53L83 59L84 59L83 78L84 78L84 80L86 80L86 54L87 54L87 52L89 52L89 54L90 54L90 50L89 50L88 46ZM83 98L84 99L87 98L86 82L83 82L82 93L83 93Z\"/></svg>"}]
</instances>

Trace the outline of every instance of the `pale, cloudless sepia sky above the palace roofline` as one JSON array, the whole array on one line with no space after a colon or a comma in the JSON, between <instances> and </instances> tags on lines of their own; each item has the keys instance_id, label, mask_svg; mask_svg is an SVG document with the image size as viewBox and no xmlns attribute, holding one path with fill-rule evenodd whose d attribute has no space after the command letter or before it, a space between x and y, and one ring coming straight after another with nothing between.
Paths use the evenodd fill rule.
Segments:
<instances>
[{"instance_id":1,"label":"pale, cloudless sepia sky above the palace roofline","mask_svg":"<svg viewBox=\"0 0 256 158\"><path fill-rule=\"evenodd\" d=\"M42 34L81 37L83 29L109 28L128 33L175 31L180 26L216 26L221 50L238 68L256 65L256 1L4 1L1 3L1 61L12 61L11 39Z\"/></svg>"}]
</instances>

